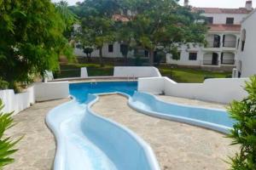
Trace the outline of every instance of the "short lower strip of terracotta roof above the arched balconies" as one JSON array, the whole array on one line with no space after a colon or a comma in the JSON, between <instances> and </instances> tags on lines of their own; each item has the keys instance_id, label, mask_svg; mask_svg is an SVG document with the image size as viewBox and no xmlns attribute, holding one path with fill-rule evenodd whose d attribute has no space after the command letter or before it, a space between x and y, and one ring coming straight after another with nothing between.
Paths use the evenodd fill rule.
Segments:
<instances>
[{"instance_id":1,"label":"short lower strip of terracotta roof above the arched balconies","mask_svg":"<svg viewBox=\"0 0 256 170\"><path fill-rule=\"evenodd\" d=\"M212 24L209 31L241 31L241 25Z\"/></svg>"}]
</instances>

